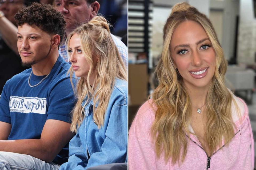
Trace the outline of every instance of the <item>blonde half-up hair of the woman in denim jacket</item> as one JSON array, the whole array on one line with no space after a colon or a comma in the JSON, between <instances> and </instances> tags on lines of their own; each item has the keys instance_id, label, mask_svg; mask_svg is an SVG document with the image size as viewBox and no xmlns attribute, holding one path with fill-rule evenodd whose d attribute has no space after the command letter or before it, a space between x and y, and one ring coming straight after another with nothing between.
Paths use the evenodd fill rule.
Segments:
<instances>
[{"instance_id":1,"label":"blonde half-up hair of the woman in denim jacket","mask_svg":"<svg viewBox=\"0 0 256 170\"><path fill-rule=\"evenodd\" d=\"M127 80L126 66L119 55L109 29L109 24L102 16L95 16L90 22L81 25L69 34L66 40L66 47L74 34L78 34L81 40L81 50L90 69L87 78L81 77L76 85L75 95L77 103L72 111L72 124L70 130L77 131L81 125L85 114L83 113L85 105L93 100L93 118L98 128L104 124L105 111L109 102L111 91L114 87L115 78ZM93 58L97 57L98 62L94 65ZM96 72L96 77L91 87L89 84L90 75ZM73 67L69 69L70 75L73 75ZM70 81L72 82L72 76ZM85 105L82 102L87 97ZM95 108L95 104L98 107Z\"/></svg>"}]
</instances>

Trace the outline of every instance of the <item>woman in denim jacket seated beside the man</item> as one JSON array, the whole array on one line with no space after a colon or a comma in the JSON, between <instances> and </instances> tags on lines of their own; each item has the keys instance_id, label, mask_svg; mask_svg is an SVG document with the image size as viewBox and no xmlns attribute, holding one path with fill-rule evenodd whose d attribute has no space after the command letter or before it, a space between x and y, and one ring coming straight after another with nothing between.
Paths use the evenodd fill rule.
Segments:
<instances>
[{"instance_id":1,"label":"woman in denim jacket seated beside the man","mask_svg":"<svg viewBox=\"0 0 256 170\"><path fill-rule=\"evenodd\" d=\"M105 18L95 16L67 37L75 93L69 160L60 169L127 162L127 73ZM72 83L72 82L71 82Z\"/></svg>"}]
</instances>

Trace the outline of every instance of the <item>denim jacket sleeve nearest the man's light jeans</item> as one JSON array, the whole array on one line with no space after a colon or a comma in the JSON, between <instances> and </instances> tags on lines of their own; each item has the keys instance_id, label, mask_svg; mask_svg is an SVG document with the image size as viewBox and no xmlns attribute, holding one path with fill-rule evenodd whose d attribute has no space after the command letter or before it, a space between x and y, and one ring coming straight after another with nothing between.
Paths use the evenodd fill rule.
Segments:
<instances>
[{"instance_id":1,"label":"denim jacket sleeve nearest the man's light jeans","mask_svg":"<svg viewBox=\"0 0 256 170\"><path fill-rule=\"evenodd\" d=\"M60 170L85 169L88 162L85 153L79 133L77 133L69 142L69 161L62 164Z\"/></svg>"}]
</instances>

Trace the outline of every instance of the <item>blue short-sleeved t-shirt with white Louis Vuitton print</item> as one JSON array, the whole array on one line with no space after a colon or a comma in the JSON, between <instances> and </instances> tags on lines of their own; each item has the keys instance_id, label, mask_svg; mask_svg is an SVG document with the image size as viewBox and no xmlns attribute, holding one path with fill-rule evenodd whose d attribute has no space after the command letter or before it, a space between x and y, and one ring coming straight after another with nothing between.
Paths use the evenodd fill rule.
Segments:
<instances>
[{"instance_id":1,"label":"blue short-sleeved t-shirt with white Louis Vuitton print","mask_svg":"<svg viewBox=\"0 0 256 170\"><path fill-rule=\"evenodd\" d=\"M70 112L75 97L67 75L69 67L69 63L59 56L49 76L38 86L30 87L28 84L31 68L6 82L0 100L0 121L11 124L8 140L40 139L47 119L71 122ZM44 77L32 73L31 86ZM62 164L67 159L68 145L53 162Z\"/></svg>"}]
</instances>

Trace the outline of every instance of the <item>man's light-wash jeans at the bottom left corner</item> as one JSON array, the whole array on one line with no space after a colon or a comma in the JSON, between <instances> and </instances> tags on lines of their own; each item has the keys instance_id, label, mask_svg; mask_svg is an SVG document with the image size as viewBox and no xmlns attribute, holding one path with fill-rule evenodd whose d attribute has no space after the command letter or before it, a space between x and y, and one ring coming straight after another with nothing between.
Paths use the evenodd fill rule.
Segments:
<instances>
[{"instance_id":1,"label":"man's light-wash jeans at the bottom left corner","mask_svg":"<svg viewBox=\"0 0 256 170\"><path fill-rule=\"evenodd\" d=\"M58 170L59 165L30 155L0 152L0 170Z\"/></svg>"}]
</instances>

